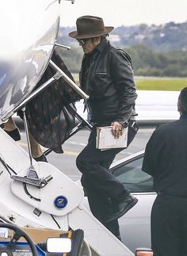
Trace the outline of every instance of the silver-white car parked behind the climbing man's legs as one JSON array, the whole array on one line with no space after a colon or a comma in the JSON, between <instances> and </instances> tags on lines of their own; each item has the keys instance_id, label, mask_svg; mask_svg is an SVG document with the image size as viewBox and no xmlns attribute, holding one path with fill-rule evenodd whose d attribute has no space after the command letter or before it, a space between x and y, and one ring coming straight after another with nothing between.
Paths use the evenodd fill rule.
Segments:
<instances>
[{"instance_id":1,"label":"silver-white car parked behind the climbing man's legs","mask_svg":"<svg viewBox=\"0 0 187 256\"><path fill-rule=\"evenodd\" d=\"M138 198L138 203L119 219L122 242L132 252L139 246L151 247L151 207L156 193L153 179L141 170L144 151L120 159L113 163L110 171L131 193ZM87 197L84 205L89 208Z\"/></svg>"}]
</instances>

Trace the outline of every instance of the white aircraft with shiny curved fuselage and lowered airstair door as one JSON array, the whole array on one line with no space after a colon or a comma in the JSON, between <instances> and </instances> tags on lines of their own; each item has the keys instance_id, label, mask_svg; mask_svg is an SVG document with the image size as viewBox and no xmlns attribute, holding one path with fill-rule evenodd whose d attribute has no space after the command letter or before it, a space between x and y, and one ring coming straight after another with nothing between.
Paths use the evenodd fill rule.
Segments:
<instances>
[{"instance_id":1,"label":"white aircraft with shiny curved fuselage and lowered airstair door","mask_svg":"<svg viewBox=\"0 0 187 256\"><path fill-rule=\"evenodd\" d=\"M29 148L28 153L0 128L0 220L18 227L81 228L85 243L97 255L131 256L132 252L84 208L82 188L50 163L36 162L30 153L25 105L33 97L63 77L82 98L88 98L51 60L60 4L59 0L0 2L0 124L23 109ZM33 90L48 64L55 75Z\"/></svg>"}]
</instances>

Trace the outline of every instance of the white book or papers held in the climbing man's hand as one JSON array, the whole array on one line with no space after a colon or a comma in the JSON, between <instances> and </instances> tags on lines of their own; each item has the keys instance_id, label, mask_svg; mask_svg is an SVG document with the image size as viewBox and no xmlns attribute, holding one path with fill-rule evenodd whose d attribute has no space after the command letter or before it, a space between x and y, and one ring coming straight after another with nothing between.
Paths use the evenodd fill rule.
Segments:
<instances>
[{"instance_id":1,"label":"white book or papers held in the climbing man's hand","mask_svg":"<svg viewBox=\"0 0 187 256\"><path fill-rule=\"evenodd\" d=\"M109 148L127 147L128 128L123 129L123 135L115 138L112 133L112 126L97 127L96 148L105 150Z\"/></svg>"}]
</instances>

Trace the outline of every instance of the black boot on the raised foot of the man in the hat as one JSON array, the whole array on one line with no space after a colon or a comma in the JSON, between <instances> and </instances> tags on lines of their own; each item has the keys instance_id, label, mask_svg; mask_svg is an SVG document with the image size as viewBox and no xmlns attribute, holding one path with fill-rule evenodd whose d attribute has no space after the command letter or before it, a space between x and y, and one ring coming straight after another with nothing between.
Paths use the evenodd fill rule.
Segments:
<instances>
[{"instance_id":1,"label":"black boot on the raised foot of the man in the hat","mask_svg":"<svg viewBox=\"0 0 187 256\"><path fill-rule=\"evenodd\" d=\"M113 202L113 213L106 216L105 222L119 219L126 212L128 212L136 203L138 199L133 197L130 193L123 195L117 201Z\"/></svg>"}]
</instances>

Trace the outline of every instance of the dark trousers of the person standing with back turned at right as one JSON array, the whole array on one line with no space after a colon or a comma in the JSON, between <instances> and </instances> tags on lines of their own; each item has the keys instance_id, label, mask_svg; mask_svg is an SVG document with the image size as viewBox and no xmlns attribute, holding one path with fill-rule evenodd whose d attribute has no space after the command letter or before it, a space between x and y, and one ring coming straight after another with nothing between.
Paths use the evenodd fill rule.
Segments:
<instances>
[{"instance_id":1,"label":"dark trousers of the person standing with back turned at right","mask_svg":"<svg viewBox=\"0 0 187 256\"><path fill-rule=\"evenodd\" d=\"M187 197L158 195L151 212L154 256L187 255Z\"/></svg>"}]
</instances>

